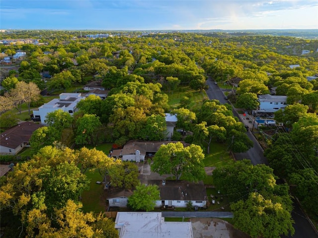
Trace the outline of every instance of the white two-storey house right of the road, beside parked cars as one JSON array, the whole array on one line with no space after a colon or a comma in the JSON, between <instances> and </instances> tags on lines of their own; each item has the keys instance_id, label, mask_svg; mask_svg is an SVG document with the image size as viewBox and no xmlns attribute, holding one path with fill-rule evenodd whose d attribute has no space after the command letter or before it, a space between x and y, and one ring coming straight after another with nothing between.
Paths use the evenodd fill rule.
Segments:
<instances>
[{"instance_id":1,"label":"white two-storey house right of the road, beside parked cars","mask_svg":"<svg viewBox=\"0 0 318 238\"><path fill-rule=\"evenodd\" d=\"M287 107L287 96L264 94L258 96L258 113L273 113Z\"/></svg>"}]
</instances>

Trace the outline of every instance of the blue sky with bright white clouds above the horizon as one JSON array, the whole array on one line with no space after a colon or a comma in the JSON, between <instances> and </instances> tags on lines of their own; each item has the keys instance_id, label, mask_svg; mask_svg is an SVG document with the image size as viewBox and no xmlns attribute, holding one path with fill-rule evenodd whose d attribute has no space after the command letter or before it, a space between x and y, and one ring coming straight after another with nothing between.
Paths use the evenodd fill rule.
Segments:
<instances>
[{"instance_id":1,"label":"blue sky with bright white clouds above the horizon","mask_svg":"<svg viewBox=\"0 0 318 238\"><path fill-rule=\"evenodd\" d=\"M0 0L0 29L318 29L318 1Z\"/></svg>"}]
</instances>

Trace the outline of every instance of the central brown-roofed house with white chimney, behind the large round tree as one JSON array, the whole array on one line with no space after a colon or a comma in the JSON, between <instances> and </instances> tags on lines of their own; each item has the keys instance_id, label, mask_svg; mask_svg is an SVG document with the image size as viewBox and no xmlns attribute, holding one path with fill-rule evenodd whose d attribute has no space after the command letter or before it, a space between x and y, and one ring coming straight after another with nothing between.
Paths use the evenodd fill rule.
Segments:
<instances>
[{"instance_id":1,"label":"central brown-roofed house with white chimney, behind the large round tree","mask_svg":"<svg viewBox=\"0 0 318 238\"><path fill-rule=\"evenodd\" d=\"M128 141L122 149L113 150L111 157L121 159L122 161L143 162L146 155L155 154L161 145L167 143L175 143L177 141L143 141L131 140ZM183 143L184 146L188 144Z\"/></svg>"}]
</instances>

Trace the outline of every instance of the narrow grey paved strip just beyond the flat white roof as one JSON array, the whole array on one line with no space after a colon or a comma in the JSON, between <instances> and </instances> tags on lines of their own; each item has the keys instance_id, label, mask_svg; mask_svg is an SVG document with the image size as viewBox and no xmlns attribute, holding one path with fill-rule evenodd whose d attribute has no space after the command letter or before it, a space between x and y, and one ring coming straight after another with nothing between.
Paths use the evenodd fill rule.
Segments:
<instances>
[{"instance_id":1,"label":"narrow grey paved strip just beyond the flat white roof","mask_svg":"<svg viewBox=\"0 0 318 238\"><path fill-rule=\"evenodd\" d=\"M176 211L163 211L162 217L214 217L214 218L232 218L232 212L176 212Z\"/></svg>"}]
</instances>

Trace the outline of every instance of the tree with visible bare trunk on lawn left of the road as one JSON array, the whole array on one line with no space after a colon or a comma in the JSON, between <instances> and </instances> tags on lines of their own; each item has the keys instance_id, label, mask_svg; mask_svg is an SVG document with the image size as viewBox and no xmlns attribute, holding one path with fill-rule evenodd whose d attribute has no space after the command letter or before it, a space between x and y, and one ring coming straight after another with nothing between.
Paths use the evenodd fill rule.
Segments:
<instances>
[{"instance_id":1,"label":"tree with visible bare trunk on lawn left of the road","mask_svg":"<svg viewBox=\"0 0 318 238\"><path fill-rule=\"evenodd\" d=\"M194 137L199 141L204 141L208 145L207 153L210 154L210 144L212 140L222 142L226 139L226 129L218 125L207 126L207 122L202 121L195 125Z\"/></svg>"}]
</instances>

